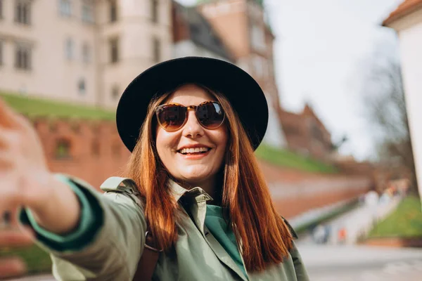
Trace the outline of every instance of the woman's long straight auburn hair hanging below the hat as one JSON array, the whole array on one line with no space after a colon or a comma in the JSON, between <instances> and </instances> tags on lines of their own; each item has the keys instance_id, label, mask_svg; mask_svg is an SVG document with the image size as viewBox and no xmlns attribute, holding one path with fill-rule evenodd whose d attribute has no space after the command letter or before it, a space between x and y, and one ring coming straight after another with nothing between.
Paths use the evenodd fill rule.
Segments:
<instances>
[{"instance_id":1,"label":"woman's long straight auburn hair hanging below the hat","mask_svg":"<svg viewBox=\"0 0 422 281\"><path fill-rule=\"evenodd\" d=\"M293 247L293 237L274 208L241 121L222 93L197 86L215 96L226 112L229 138L222 167L221 203L224 218L234 230L237 241L241 242L245 267L248 271L260 271L271 264L281 263ZM125 176L133 178L139 187L155 246L166 251L177 241L177 210L180 206L167 184L171 175L161 163L155 147L155 107L164 103L174 91L151 100L125 172Z\"/></svg>"}]
</instances>

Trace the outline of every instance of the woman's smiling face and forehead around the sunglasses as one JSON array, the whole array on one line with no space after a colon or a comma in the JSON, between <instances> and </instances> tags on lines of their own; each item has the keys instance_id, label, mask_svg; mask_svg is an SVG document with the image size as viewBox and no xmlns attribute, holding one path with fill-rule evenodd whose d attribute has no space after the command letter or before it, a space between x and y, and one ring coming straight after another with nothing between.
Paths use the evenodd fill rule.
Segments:
<instances>
[{"instance_id":1,"label":"woman's smiling face and forehead around the sunglasses","mask_svg":"<svg viewBox=\"0 0 422 281\"><path fill-rule=\"evenodd\" d=\"M204 89L192 84L181 86L165 103L199 105L217 100ZM162 164L179 181L191 186L214 183L222 166L227 143L226 125L205 129L196 119L194 110L188 110L188 119L177 131L165 131L157 126L156 147Z\"/></svg>"}]
</instances>

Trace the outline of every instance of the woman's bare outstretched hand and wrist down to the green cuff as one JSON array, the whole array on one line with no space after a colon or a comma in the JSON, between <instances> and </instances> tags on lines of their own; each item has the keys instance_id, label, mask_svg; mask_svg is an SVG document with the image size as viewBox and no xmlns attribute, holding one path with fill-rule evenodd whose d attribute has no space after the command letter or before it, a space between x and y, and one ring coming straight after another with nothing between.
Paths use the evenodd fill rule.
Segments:
<instances>
[{"instance_id":1,"label":"woman's bare outstretched hand and wrist down to the green cuff","mask_svg":"<svg viewBox=\"0 0 422 281\"><path fill-rule=\"evenodd\" d=\"M0 98L0 216L19 207L53 233L66 233L79 221L77 196L49 171L37 131Z\"/></svg>"}]
</instances>

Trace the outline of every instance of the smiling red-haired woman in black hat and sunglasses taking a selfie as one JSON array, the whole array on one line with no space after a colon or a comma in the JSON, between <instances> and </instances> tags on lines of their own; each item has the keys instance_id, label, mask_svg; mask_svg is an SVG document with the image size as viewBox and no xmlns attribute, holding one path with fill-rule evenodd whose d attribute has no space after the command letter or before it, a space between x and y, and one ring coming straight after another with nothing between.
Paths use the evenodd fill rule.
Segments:
<instances>
[{"instance_id":1,"label":"smiling red-haired woman in black hat and sunglasses taking a selfie","mask_svg":"<svg viewBox=\"0 0 422 281\"><path fill-rule=\"evenodd\" d=\"M59 280L308 280L253 155L264 93L235 65L180 58L136 77L116 118L133 181L104 195L51 175L27 122L0 111L0 206L25 207Z\"/></svg>"}]
</instances>

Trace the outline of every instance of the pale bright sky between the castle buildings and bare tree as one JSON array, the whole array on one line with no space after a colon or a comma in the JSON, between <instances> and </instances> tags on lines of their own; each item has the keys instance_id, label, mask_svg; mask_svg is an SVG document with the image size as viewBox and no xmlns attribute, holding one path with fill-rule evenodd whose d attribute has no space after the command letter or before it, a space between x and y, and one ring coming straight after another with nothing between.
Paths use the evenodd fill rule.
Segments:
<instances>
[{"instance_id":1,"label":"pale bright sky between the castle buildings and bare tree","mask_svg":"<svg viewBox=\"0 0 422 281\"><path fill-rule=\"evenodd\" d=\"M391 50L388 55L397 58L397 36L381 27L381 22L402 1L265 1L276 37L274 63L281 106L300 112L305 103L312 105L333 141L347 136L339 150L342 155L358 160L375 156L359 67L371 60L371 52L380 42Z\"/></svg>"}]
</instances>

